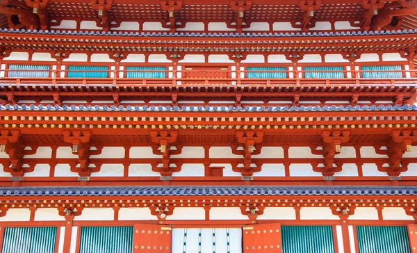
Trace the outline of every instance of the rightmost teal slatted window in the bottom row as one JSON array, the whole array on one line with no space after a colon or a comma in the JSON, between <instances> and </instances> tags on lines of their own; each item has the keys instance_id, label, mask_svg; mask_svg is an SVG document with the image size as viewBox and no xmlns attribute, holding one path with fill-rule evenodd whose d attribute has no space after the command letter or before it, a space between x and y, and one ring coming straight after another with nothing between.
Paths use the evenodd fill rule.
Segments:
<instances>
[{"instance_id":1,"label":"rightmost teal slatted window in the bottom row","mask_svg":"<svg viewBox=\"0 0 417 253\"><path fill-rule=\"evenodd\" d=\"M409 253L405 226L357 226L359 253Z\"/></svg>"}]
</instances>

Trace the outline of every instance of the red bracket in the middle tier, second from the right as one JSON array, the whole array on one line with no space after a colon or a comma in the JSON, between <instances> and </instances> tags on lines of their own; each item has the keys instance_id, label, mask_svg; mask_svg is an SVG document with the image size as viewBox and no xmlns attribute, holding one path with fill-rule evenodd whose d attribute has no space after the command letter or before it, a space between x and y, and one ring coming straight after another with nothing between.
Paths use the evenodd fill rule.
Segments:
<instances>
[{"instance_id":1,"label":"red bracket in the middle tier, second from the right","mask_svg":"<svg viewBox=\"0 0 417 253\"><path fill-rule=\"evenodd\" d=\"M341 145L349 141L350 131L344 130L325 130L322 131L322 149L318 149L317 145L310 145L311 154L321 155L324 158L323 166L319 167L316 163L311 163L315 172L321 172L323 178L328 180L334 180L334 173L340 172L343 163L336 162L334 158L341 152Z\"/></svg>"}]
</instances>

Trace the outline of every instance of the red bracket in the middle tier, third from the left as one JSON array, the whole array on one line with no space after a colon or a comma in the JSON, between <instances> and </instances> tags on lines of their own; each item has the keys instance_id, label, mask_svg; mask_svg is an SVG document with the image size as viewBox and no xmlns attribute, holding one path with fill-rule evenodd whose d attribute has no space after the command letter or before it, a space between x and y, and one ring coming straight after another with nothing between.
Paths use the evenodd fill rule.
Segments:
<instances>
[{"instance_id":1,"label":"red bracket in the middle tier, third from the left","mask_svg":"<svg viewBox=\"0 0 417 253\"><path fill-rule=\"evenodd\" d=\"M150 133L152 145L152 151L156 155L162 155L161 161L154 161L151 163L152 171L159 172L161 174L161 180L171 180L173 172L181 171L182 162L176 162L175 166L172 166L170 161L171 155L181 154L182 145L174 145L177 142L177 131L151 131ZM176 147L177 149L171 149Z\"/></svg>"}]
</instances>

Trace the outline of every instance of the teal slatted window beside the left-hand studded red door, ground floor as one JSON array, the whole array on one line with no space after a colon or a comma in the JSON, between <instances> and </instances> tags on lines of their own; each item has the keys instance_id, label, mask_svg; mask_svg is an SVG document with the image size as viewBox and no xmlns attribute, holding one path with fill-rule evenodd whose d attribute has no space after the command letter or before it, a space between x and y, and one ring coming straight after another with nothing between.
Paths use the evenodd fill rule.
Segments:
<instances>
[{"instance_id":1,"label":"teal slatted window beside the left-hand studded red door, ground floor","mask_svg":"<svg viewBox=\"0 0 417 253\"><path fill-rule=\"evenodd\" d=\"M133 227L81 227L80 253L131 253Z\"/></svg>"}]
</instances>

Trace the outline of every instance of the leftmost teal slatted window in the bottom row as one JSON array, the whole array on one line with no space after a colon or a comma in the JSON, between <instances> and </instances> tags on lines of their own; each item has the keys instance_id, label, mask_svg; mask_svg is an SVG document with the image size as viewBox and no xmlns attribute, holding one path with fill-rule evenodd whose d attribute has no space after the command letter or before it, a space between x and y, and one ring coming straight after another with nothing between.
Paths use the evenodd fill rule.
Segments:
<instances>
[{"instance_id":1,"label":"leftmost teal slatted window in the bottom row","mask_svg":"<svg viewBox=\"0 0 417 253\"><path fill-rule=\"evenodd\" d=\"M6 227L2 253L54 253L56 227Z\"/></svg>"}]
</instances>

